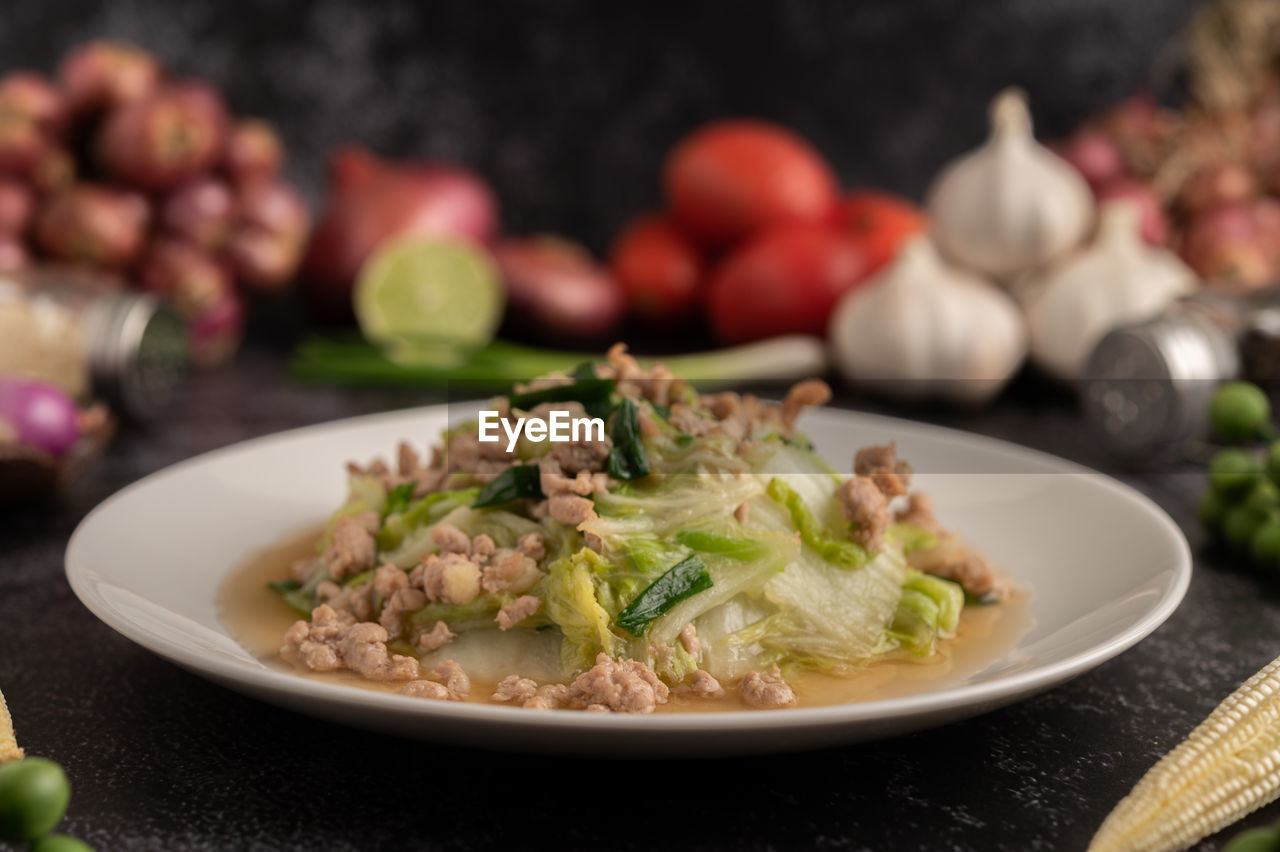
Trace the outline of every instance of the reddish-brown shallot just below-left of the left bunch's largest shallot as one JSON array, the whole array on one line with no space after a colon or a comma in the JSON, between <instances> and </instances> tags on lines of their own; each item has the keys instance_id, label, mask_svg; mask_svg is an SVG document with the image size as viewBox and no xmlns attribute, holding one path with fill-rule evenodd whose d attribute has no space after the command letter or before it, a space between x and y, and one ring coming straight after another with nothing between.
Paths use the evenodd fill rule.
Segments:
<instances>
[{"instance_id":1,"label":"reddish-brown shallot just below-left of the left bunch's largest shallot","mask_svg":"<svg viewBox=\"0 0 1280 852\"><path fill-rule=\"evenodd\" d=\"M58 260L127 266L142 253L150 217L142 197L81 183L44 203L36 217L36 242Z\"/></svg>"}]
</instances>

